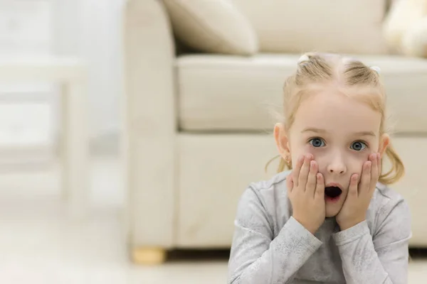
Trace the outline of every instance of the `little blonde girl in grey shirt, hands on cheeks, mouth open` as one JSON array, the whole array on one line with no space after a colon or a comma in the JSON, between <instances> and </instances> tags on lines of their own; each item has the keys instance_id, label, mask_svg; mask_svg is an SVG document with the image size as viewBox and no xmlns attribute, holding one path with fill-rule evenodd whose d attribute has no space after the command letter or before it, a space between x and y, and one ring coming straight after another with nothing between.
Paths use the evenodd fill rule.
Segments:
<instances>
[{"instance_id":1,"label":"little blonde girl in grey shirt, hands on cheeks, mouth open","mask_svg":"<svg viewBox=\"0 0 427 284\"><path fill-rule=\"evenodd\" d=\"M408 204L387 187L404 165L379 79L351 58L300 58L274 129L280 173L243 192L228 283L407 283Z\"/></svg>"}]
</instances>

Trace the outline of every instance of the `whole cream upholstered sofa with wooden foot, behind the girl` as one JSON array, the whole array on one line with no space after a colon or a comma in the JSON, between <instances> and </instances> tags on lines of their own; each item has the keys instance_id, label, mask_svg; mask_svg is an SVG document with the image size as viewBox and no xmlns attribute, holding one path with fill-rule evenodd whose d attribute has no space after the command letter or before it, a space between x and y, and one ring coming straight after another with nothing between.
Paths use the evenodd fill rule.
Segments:
<instances>
[{"instance_id":1,"label":"whole cream upholstered sofa with wooden foot, behind the girl","mask_svg":"<svg viewBox=\"0 0 427 284\"><path fill-rule=\"evenodd\" d=\"M257 33L255 55L177 55L162 1L127 1L122 150L132 259L159 262L169 249L231 246L241 193L275 173L275 165L264 170L277 155L271 106L280 106L297 58L313 49L381 67L397 119L392 141L407 169L394 189L411 206L411 246L427 247L427 61L388 54L381 40L386 1L234 2ZM302 2L317 6L309 11Z\"/></svg>"}]
</instances>

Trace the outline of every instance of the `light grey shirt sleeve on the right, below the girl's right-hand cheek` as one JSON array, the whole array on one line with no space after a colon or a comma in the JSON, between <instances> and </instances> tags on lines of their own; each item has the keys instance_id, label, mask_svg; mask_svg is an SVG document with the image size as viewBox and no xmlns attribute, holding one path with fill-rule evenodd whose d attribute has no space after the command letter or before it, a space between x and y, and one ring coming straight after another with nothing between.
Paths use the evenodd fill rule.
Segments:
<instances>
[{"instance_id":1,"label":"light grey shirt sleeve on the right, below the girl's right-hand cheek","mask_svg":"<svg viewBox=\"0 0 427 284\"><path fill-rule=\"evenodd\" d=\"M367 221L334 234L348 284L408 283L410 212L404 200L394 203L379 210L374 236Z\"/></svg>"}]
</instances>

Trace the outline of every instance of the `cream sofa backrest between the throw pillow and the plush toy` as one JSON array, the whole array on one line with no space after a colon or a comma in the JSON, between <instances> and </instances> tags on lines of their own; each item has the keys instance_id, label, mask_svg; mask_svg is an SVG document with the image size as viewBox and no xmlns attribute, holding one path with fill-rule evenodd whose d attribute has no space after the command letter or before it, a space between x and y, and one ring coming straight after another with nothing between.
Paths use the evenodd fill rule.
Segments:
<instances>
[{"instance_id":1,"label":"cream sofa backrest between the throw pillow and the plush toy","mask_svg":"<svg viewBox=\"0 0 427 284\"><path fill-rule=\"evenodd\" d=\"M231 0L249 18L261 52L387 53L389 0Z\"/></svg>"}]
</instances>

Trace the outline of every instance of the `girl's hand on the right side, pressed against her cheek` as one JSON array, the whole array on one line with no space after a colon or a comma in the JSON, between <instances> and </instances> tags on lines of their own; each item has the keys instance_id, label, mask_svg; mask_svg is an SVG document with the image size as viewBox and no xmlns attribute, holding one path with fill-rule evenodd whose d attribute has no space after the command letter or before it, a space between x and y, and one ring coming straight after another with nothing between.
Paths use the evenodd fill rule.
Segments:
<instances>
[{"instance_id":1,"label":"girl's hand on the right side, pressed against her cheek","mask_svg":"<svg viewBox=\"0 0 427 284\"><path fill-rule=\"evenodd\" d=\"M379 153L369 155L368 159L363 165L359 184L357 174L352 175L350 179L349 193L337 214L337 223L341 230L349 229L366 219L367 209L381 174Z\"/></svg>"}]
</instances>

